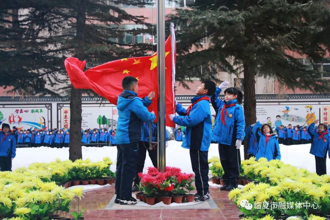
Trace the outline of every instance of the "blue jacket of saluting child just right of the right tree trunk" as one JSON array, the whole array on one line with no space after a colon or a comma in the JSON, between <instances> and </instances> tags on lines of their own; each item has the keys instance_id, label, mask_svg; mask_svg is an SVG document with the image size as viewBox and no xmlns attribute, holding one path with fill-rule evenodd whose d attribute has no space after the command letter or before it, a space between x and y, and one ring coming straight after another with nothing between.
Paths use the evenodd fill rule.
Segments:
<instances>
[{"instance_id":1,"label":"blue jacket of saluting child just right of the right tree trunk","mask_svg":"<svg viewBox=\"0 0 330 220\"><path fill-rule=\"evenodd\" d=\"M280 146L276 135L272 134L266 143L266 135L259 131L261 126L262 124L258 121L252 128L252 133L258 142L255 159L259 160L259 158L265 157L268 161L273 159L281 160Z\"/></svg>"}]
</instances>

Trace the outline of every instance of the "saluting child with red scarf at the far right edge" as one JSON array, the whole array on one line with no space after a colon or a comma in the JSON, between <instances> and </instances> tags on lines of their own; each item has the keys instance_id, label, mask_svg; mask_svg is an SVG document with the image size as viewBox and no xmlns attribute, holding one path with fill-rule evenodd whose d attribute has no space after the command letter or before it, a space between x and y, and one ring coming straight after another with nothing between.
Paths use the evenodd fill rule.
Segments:
<instances>
[{"instance_id":1,"label":"saluting child with red scarf at the far right edge","mask_svg":"<svg viewBox=\"0 0 330 220\"><path fill-rule=\"evenodd\" d=\"M315 156L315 168L317 175L323 175L327 174L327 152L330 158L330 137L325 124L319 124L316 130L314 130L314 126L317 122L318 120L315 120L308 127L308 133L313 138L310 154Z\"/></svg>"}]
</instances>

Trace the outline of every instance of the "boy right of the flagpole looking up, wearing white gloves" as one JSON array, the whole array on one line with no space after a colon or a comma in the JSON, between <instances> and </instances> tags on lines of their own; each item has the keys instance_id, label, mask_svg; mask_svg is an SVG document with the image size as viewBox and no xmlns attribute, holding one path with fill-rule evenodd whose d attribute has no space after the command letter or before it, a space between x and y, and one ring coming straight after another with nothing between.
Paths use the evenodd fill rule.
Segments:
<instances>
[{"instance_id":1,"label":"boy right of the flagpole looking up, wearing white gloves","mask_svg":"<svg viewBox=\"0 0 330 220\"><path fill-rule=\"evenodd\" d=\"M210 110L211 95L215 92L215 83L203 80L197 88L196 97L191 99L191 105L184 109L176 102L177 113L169 117L176 124L185 126L185 136L182 147L189 149L192 170L195 173L197 194L195 201L209 201L209 164L208 152L212 139L212 115Z\"/></svg>"}]
</instances>

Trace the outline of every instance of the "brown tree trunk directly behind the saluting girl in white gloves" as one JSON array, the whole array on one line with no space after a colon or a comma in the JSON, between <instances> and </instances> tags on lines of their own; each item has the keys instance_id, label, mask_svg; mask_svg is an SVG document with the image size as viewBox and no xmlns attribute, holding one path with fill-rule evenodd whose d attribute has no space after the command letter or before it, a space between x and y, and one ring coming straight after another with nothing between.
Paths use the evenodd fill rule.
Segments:
<instances>
[{"instance_id":1,"label":"brown tree trunk directly behind the saluting girl in white gloves","mask_svg":"<svg viewBox=\"0 0 330 220\"><path fill-rule=\"evenodd\" d=\"M244 116L246 126L254 124L257 120L256 116L256 98L255 98L255 79L254 71L251 70L247 63L244 66ZM245 134L244 141L244 159L248 159L248 141Z\"/></svg>"}]
</instances>

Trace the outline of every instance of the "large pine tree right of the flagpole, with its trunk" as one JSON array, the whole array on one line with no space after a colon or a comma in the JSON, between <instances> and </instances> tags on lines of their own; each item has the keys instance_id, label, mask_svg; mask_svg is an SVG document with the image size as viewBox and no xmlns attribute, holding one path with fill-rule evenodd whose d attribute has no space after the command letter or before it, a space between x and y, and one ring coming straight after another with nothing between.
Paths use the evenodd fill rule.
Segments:
<instances>
[{"instance_id":1,"label":"large pine tree right of the flagpole, with its trunk","mask_svg":"<svg viewBox=\"0 0 330 220\"><path fill-rule=\"evenodd\" d=\"M200 77L192 70L206 65L201 78L211 78L212 64L230 74L244 73L246 124L256 122L255 77L274 76L288 88L329 91L329 83L314 65L330 46L330 13L325 1L196 0L192 9L170 16L177 34L177 76ZM210 41L203 49L201 39ZM191 49L194 52L189 52ZM292 54L305 54L313 69ZM245 146L245 155L247 145Z\"/></svg>"}]
</instances>

